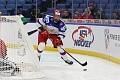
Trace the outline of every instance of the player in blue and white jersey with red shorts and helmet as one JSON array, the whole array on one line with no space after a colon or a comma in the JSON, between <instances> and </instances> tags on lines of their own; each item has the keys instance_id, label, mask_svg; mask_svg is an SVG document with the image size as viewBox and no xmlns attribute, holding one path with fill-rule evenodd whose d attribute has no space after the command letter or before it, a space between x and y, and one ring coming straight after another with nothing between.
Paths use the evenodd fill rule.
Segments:
<instances>
[{"instance_id":1,"label":"player in blue and white jersey with red shorts and helmet","mask_svg":"<svg viewBox=\"0 0 120 80\"><path fill-rule=\"evenodd\" d=\"M61 49L63 47L62 39L65 38L67 30L65 23L60 19L62 12L60 10L54 11L54 16L45 15L43 18L37 20L37 26L40 30L38 34L38 58L40 60L47 39L52 41L54 48L57 48L61 54L61 58L68 64L73 64L68 60L66 52Z\"/></svg>"}]
</instances>

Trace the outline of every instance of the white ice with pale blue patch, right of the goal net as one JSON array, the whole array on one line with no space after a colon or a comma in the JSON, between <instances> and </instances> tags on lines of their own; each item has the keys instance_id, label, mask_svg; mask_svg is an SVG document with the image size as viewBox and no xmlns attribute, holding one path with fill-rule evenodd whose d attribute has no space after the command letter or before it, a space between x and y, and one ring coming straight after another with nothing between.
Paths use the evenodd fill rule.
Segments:
<instances>
[{"instance_id":1,"label":"white ice with pale blue patch, right of the goal net","mask_svg":"<svg viewBox=\"0 0 120 80\"><path fill-rule=\"evenodd\" d=\"M72 55L80 62L87 60L88 65L82 67L75 61L74 65L67 65L58 52L44 51L41 56L41 66L46 80L120 80L120 65L97 57Z\"/></svg>"}]
</instances>

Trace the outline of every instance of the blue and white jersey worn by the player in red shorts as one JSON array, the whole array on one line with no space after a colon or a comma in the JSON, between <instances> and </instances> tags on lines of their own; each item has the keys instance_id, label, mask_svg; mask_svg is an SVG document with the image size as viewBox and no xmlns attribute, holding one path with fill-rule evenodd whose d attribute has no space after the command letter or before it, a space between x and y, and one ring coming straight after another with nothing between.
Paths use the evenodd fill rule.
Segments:
<instances>
[{"instance_id":1,"label":"blue and white jersey worn by the player in red shorts","mask_svg":"<svg viewBox=\"0 0 120 80\"><path fill-rule=\"evenodd\" d=\"M45 15L43 18L37 20L37 26L45 25L44 28L49 32L49 34L58 34L58 37L64 38L65 32L67 30L65 23L59 20L55 23L53 16Z\"/></svg>"}]
</instances>

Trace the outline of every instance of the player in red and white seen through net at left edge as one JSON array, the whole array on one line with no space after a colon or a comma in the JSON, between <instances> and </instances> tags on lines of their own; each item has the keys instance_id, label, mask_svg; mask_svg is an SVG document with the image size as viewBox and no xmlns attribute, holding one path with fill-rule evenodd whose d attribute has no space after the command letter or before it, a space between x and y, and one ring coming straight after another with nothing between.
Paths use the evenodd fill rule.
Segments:
<instances>
[{"instance_id":1,"label":"player in red and white seen through net at left edge","mask_svg":"<svg viewBox=\"0 0 120 80\"><path fill-rule=\"evenodd\" d=\"M0 74L10 74L10 76L15 76L16 73L21 71L16 66L14 62L7 60L5 57L7 55L7 48L3 40L0 39Z\"/></svg>"}]
</instances>

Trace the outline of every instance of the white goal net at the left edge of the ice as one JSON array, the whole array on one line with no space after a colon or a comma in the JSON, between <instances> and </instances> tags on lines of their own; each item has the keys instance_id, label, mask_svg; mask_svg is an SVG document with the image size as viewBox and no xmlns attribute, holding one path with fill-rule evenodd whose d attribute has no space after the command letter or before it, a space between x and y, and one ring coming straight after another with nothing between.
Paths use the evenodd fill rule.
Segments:
<instances>
[{"instance_id":1,"label":"white goal net at the left edge of the ice","mask_svg":"<svg viewBox=\"0 0 120 80\"><path fill-rule=\"evenodd\" d=\"M41 70L37 52L35 52L24 25L19 16L0 17L0 80L41 80ZM3 50L3 51L2 51Z\"/></svg>"}]
</instances>

